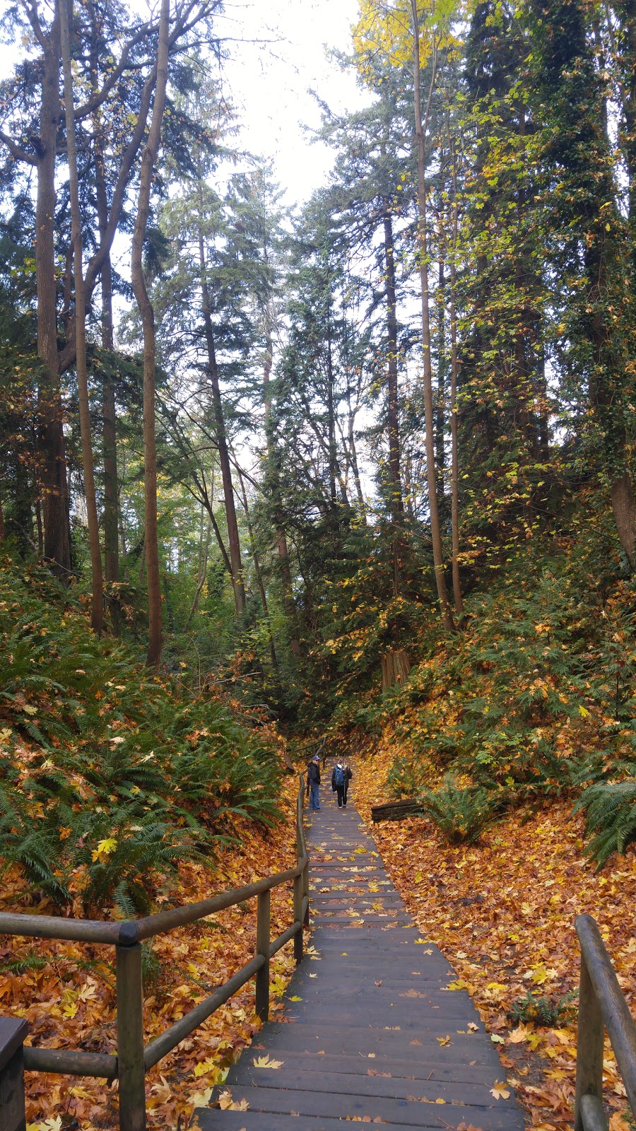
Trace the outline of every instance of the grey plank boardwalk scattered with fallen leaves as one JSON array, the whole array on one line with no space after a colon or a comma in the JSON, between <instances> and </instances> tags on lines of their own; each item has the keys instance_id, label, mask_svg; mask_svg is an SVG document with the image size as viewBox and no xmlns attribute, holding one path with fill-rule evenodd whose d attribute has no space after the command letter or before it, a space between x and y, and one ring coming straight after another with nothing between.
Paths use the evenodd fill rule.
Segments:
<instances>
[{"instance_id":1,"label":"grey plank boardwalk scattered with fallen leaves","mask_svg":"<svg viewBox=\"0 0 636 1131\"><path fill-rule=\"evenodd\" d=\"M524 1117L465 991L393 887L351 795L308 828L313 934L285 994L227 1078L244 1111L197 1111L201 1131L335 1131L342 1121L394 1131L522 1131ZM255 1067L268 1057L277 1068ZM222 1091L225 1089L217 1089ZM213 1103L216 1097L213 1097Z\"/></svg>"}]
</instances>

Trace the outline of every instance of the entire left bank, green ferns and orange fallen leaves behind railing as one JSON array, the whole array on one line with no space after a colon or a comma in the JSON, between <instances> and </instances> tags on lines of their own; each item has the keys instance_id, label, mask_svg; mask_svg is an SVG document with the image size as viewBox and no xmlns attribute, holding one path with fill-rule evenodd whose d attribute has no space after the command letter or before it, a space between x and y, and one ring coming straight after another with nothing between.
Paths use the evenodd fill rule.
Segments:
<instances>
[{"instance_id":1,"label":"entire left bank, green ferns and orange fallen leaves behind railing","mask_svg":"<svg viewBox=\"0 0 636 1131\"><path fill-rule=\"evenodd\" d=\"M295 862L298 779L264 711L192 694L132 645L88 630L72 587L0 561L0 910L136 917ZM273 936L292 920L273 893ZM255 900L144 946L145 1036L253 956ZM273 965L281 995L290 948ZM114 950L0 935L0 1013L29 1043L117 1048ZM147 1077L148 1125L187 1126L251 1037L253 983ZM27 1073L31 1131L117 1125L117 1086Z\"/></svg>"}]
</instances>

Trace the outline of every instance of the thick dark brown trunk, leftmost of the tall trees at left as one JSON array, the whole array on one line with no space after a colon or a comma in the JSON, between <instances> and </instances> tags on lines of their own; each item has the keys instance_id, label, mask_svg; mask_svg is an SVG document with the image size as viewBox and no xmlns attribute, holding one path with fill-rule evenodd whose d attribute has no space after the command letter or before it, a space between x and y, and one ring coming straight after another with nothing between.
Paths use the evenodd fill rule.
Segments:
<instances>
[{"instance_id":1,"label":"thick dark brown trunk, leftmost of the tall trees at left","mask_svg":"<svg viewBox=\"0 0 636 1131\"><path fill-rule=\"evenodd\" d=\"M60 120L60 18L55 8L43 44L42 105L35 205L35 275L37 287L37 353L43 361L38 388L40 450L44 556L62 581L70 575L70 532L62 400L58 369L55 251L55 154Z\"/></svg>"}]
</instances>

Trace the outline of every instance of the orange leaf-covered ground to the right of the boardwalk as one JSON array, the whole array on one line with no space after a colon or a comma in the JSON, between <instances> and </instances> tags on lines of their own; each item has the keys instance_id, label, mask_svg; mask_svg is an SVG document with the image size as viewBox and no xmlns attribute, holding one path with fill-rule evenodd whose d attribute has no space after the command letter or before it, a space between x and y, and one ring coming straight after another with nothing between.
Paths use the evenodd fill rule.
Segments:
<instances>
[{"instance_id":1,"label":"orange leaf-covered ground to the right of the boardwalk","mask_svg":"<svg viewBox=\"0 0 636 1131\"><path fill-rule=\"evenodd\" d=\"M358 761L358 809L422 933L457 970L457 988L471 993L531 1126L570 1129L579 976L574 920L585 912L599 923L634 1010L636 852L612 857L596 873L583 855L581 814L573 818L567 802L517 810L473 845L447 844L420 818L375 824L371 805L392 796L386 777L395 753L387 745ZM552 1024L519 1020L522 1001L527 1010L541 998L560 1007ZM609 1042L604 1087L610 1131L629 1131Z\"/></svg>"}]
</instances>

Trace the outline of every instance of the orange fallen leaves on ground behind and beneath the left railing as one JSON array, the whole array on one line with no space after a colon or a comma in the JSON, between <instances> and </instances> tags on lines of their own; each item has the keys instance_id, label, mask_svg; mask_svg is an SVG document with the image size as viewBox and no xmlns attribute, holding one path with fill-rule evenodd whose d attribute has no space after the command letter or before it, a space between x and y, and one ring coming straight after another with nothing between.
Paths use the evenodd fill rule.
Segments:
<instances>
[{"instance_id":1,"label":"orange fallen leaves on ground behind and beneath the left railing","mask_svg":"<svg viewBox=\"0 0 636 1131\"><path fill-rule=\"evenodd\" d=\"M166 906L194 903L227 888L239 888L295 863L295 796L298 779L284 779L284 820L259 832L253 822L237 820L240 848L225 849L212 878L200 865L183 863L171 880ZM3 877L0 909L20 909L24 880L17 870ZM292 888L272 893L273 936L291 922ZM160 900L162 901L162 897ZM36 912L33 905L24 908ZM46 912L48 908L41 908ZM145 961L145 1038L148 1043L182 1017L215 986L249 961L256 943L256 904L229 908L214 918L157 936ZM293 973L292 948L273 959L272 1009ZM148 1128L188 1126L194 1107L209 1099L212 1088L237 1053L260 1028L255 1013L255 983L249 982L191 1036L181 1042L146 1078ZM2 938L0 1012L29 1022L28 1043L41 1047L112 1052L117 1047L114 953L112 948L81 943ZM98 1131L117 1125L117 1085L101 1080L26 1073L28 1131Z\"/></svg>"}]
</instances>

